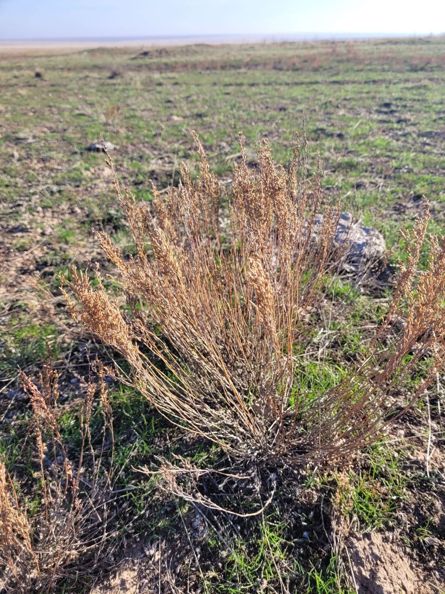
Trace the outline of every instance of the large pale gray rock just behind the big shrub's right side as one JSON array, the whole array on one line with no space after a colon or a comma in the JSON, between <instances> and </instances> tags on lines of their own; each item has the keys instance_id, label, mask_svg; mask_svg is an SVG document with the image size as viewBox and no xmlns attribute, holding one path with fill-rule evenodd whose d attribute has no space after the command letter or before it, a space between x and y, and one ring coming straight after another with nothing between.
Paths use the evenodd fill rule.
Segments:
<instances>
[{"instance_id":1,"label":"large pale gray rock just behind the big shrub's right side","mask_svg":"<svg viewBox=\"0 0 445 594\"><path fill-rule=\"evenodd\" d=\"M323 215L317 214L312 236L317 238L322 229ZM382 233L372 227L365 227L352 214L341 213L334 241L336 244L347 242L346 260L352 267L363 266L382 259L386 252L386 243Z\"/></svg>"}]
</instances>

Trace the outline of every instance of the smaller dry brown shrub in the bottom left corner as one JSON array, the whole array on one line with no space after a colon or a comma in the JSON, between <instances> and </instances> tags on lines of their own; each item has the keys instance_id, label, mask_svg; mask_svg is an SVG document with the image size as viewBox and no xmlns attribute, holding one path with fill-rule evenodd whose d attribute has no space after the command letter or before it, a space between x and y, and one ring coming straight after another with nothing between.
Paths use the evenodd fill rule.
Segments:
<instances>
[{"instance_id":1,"label":"smaller dry brown shrub in the bottom left corner","mask_svg":"<svg viewBox=\"0 0 445 594\"><path fill-rule=\"evenodd\" d=\"M26 492L40 504L33 514L27 513L5 461L0 460L2 592L48 592L59 579L77 579L98 566L104 545L109 544L113 420L101 368L99 375L98 385L84 383L78 450L72 444L67 449L59 433L58 373L45 368L40 388L21 375L34 411L36 469ZM90 432L96 393L103 416L99 445L93 445L96 440Z\"/></svg>"}]
</instances>

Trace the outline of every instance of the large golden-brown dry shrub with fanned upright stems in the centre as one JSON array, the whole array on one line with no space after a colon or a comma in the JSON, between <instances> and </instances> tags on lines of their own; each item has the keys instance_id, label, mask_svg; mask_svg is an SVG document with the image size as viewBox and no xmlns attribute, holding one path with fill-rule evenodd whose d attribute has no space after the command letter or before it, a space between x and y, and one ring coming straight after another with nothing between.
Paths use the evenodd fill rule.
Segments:
<instances>
[{"instance_id":1,"label":"large golden-brown dry shrub with fanned upright stems in the centre","mask_svg":"<svg viewBox=\"0 0 445 594\"><path fill-rule=\"evenodd\" d=\"M348 377L331 389L303 391L297 355L329 307L326 292L347 248L335 241L340 208L325 208L320 229L321 169L309 174L306 143L297 144L285 170L275 167L264 141L253 175L241 137L241 161L223 204L195 140L201 175L192 181L183 165L179 187L168 197L153 189L151 205L122 195L109 161L137 255L124 258L109 237L99 238L131 314L110 298L100 274L94 287L75 269L63 289L71 313L131 364L131 374L120 372L123 382L173 424L236 459L343 463L381 434L389 397L422 356L406 358L415 343L430 350L433 363L407 406L443 364L445 247L431 238L430 267L414 290L426 230L418 223L389 315L363 358L351 361ZM406 318L399 334L397 317Z\"/></svg>"}]
</instances>

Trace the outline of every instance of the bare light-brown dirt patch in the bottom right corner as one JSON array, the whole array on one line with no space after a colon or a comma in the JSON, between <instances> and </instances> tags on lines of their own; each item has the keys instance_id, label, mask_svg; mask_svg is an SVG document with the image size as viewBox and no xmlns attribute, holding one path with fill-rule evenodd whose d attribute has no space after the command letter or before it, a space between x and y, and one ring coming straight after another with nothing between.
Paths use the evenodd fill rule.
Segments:
<instances>
[{"instance_id":1,"label":"bare light-brown dirt patch in the bottom right corner","mask_svg":"<svg viewBox=\"0 0 445 594\"><path fill-rule=\"evenodd\" d=\"M355 535L348 549L359 594L433 594L445 583L425 574L394 533Z\"/></svg>"}]
</instances>

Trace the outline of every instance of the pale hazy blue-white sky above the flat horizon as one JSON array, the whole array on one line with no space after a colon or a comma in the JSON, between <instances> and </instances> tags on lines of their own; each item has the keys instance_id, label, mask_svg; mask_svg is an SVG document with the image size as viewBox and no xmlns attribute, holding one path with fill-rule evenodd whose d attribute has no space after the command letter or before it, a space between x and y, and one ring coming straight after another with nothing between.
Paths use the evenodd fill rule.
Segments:
<instances>
[{"instance_id":1,"label":"pale hazy blue-white sky above the flat horizon","mask_svg":"<svg viewBox=\"0 0 445 594\"><path fill-rule=\"evenodd\" d=\"M445 0L0 0L0 39L444 30Z\"/></svg>"}]
</instances>

